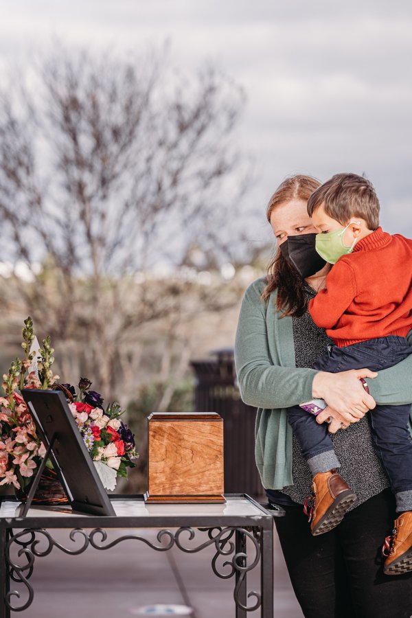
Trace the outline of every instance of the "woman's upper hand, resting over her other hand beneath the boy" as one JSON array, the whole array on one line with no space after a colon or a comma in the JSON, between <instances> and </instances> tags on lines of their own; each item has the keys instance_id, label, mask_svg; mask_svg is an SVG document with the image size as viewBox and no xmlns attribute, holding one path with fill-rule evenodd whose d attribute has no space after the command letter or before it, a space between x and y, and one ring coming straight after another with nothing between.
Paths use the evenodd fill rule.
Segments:
<instances>
[{"instance_id":1,"label":"woman's upper hand, resting over her other hand beneath the boy","mask_svg":"<svg viewBox=\"0 0 412 618\"><path fill-rule=\"evenodd\" d=\"M350 369L339 374L319 371L312 382L312 396L324 399L328 406L342 415L344 424L356 422L376 406L374 398L365 391L361 378L376 378L377 375L370 369Z\"/></svg>"}]
</instances>

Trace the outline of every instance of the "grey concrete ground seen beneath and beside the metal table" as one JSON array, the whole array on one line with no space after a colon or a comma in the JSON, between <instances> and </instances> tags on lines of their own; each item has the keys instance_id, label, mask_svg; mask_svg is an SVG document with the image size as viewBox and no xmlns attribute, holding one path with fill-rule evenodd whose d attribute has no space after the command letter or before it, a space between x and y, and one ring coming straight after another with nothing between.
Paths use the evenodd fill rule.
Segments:
<instances>
[{"instance_id":1,"label":"grey concrete ground seen beneath and beside the metal table","mask_svg":"<svg viewBox=\"0 0 412 618\"><path fill-rule=\"evenodd\" d=\"M156 542L156 531L130 531ZM112 531L111 539L122 536ZM196 532L198 545L207 540ZM54 531L54 538L74 545L67 531ZM275 532L274 618L302 618L288 580ZM194 554L176 547L153 551L142 541L123 541L110 550L87 549L80 556L67 556L54 547L49 556L36 558L32 585L34 601L21 618L112 618L143 615L142 606L179 604L193 608L192 618L234 618L233 577L221 580L211 570L211 547ZM220 559L222 561L222 559ZM221 562L220 562L221 564ZM259 569L248 576L248 592L259 589ZM22 597L23 598L23 597ZM251 597L253 602L253 597ZM147 614L147 615L150 615ZM152 611L151 615L155 614ZM167 615L167 614L164 614ZM178 613L174 615L181 615ZM249 612L257 618L259 612ZM12 613L17 616L17 613Z\"/></svg>"}]
</instances>

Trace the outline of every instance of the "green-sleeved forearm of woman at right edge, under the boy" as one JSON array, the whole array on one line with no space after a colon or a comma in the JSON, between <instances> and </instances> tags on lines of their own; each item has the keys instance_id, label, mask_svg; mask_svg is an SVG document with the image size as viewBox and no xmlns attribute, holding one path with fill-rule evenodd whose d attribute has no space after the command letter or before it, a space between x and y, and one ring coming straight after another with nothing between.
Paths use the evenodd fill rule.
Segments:
<instances>
[{"instance_id":1,"label":"green-sleeved forearm of woman at right edge, under the boy","mask_svg":"<svg viewBox=\"0 0 412 618\"><path fill-rule=\"evenodd\" d=\"M412 330L407 336L412 346ZM400 406L412 403L412 354L402 363L378 372L374 380L367 380L371 396L377 404Z\"/></svg>"}]
</instances>

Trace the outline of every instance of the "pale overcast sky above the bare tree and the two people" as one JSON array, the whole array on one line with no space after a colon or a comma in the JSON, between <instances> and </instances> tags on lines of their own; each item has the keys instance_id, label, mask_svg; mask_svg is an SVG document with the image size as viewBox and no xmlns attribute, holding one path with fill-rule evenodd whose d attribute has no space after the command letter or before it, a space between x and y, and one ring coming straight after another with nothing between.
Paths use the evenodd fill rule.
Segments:
<instances>
[{"instance_id":1,"label":"pale overcast sky above the bare tree and the two people","mask_svg":"<svg viewBox=\"0 0 412 618\"><path fill-rule=\"evenodd\" d=\"M62 38L118 51L170 40L244 87L239 128L264 211L285 176L365 172L382 225L412 236L412 3L321 0L0 0L0 69ZM1 74L1 73L0 73Z\"/></svg>"}]
</instances>

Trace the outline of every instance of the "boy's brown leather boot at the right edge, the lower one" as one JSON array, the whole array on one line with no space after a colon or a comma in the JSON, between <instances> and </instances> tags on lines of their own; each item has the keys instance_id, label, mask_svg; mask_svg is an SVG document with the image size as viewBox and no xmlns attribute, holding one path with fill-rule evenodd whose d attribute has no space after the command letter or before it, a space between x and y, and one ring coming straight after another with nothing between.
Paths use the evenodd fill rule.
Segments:
<instances>
[{"instance_id":1,"label":"boy's brown leather boot at the right edge, the lower one","mask_svg":"<svg viewBox=\"0 0 412 618\"><path fill-rule=\"evenodd\" d=\"M387 556L383 572L402 575L412 571L412 511L405 511L393 525L393 534L387 536L382 553Z\"/></svg>"}]
</instances>

